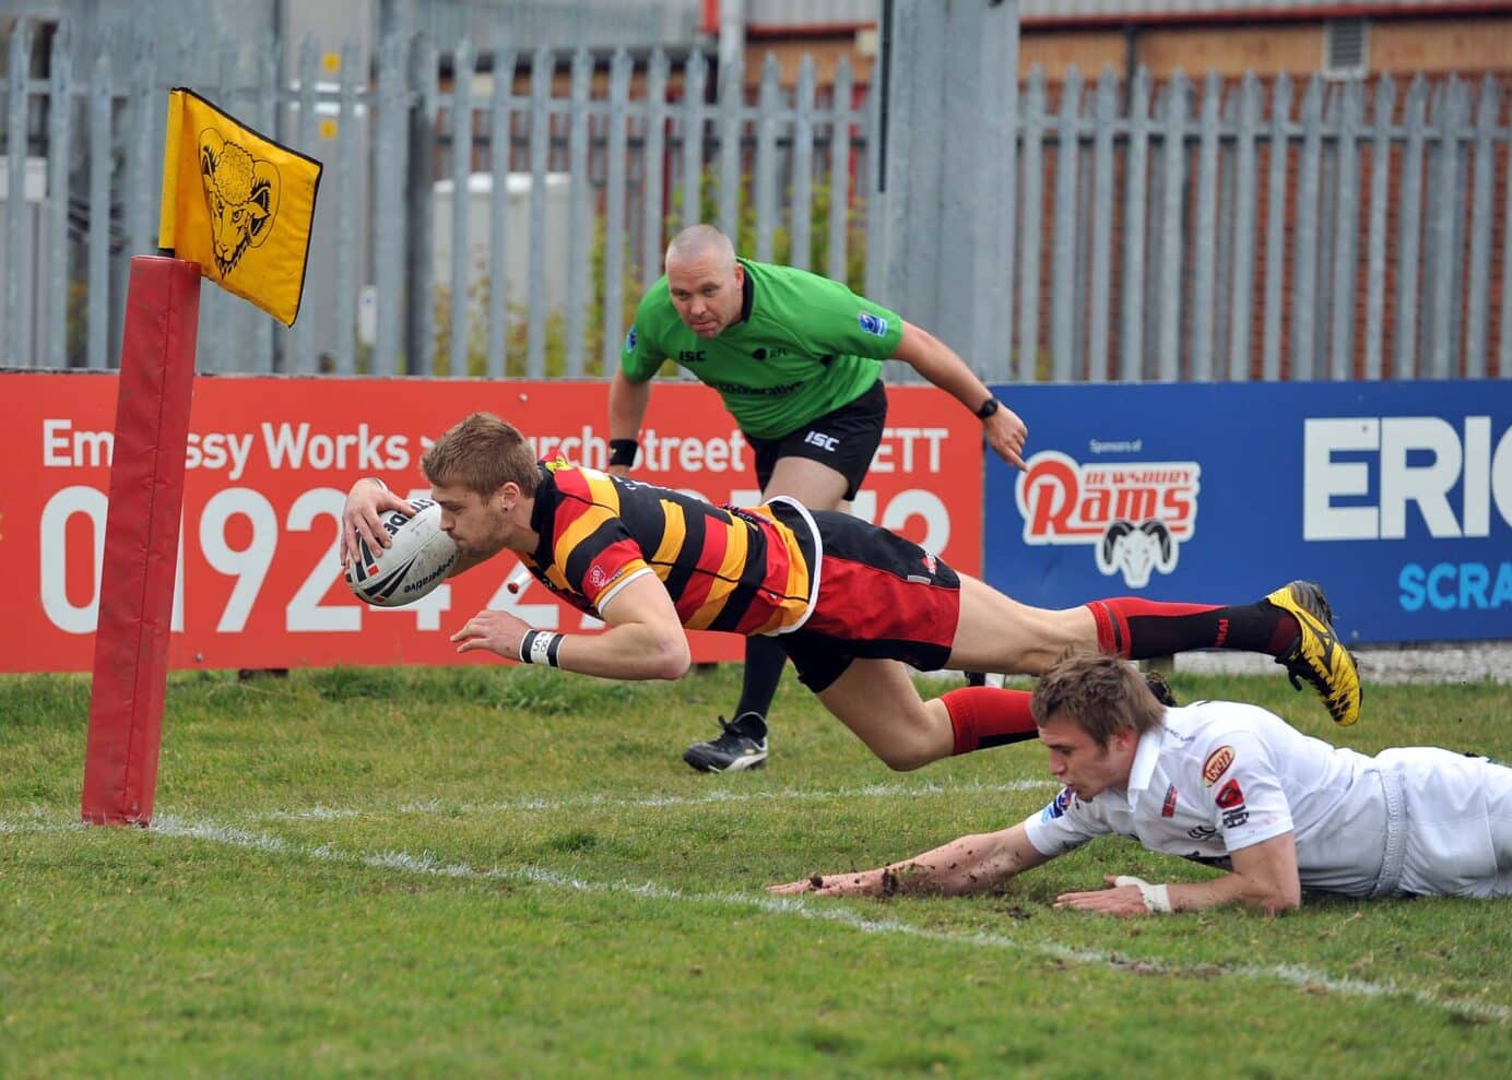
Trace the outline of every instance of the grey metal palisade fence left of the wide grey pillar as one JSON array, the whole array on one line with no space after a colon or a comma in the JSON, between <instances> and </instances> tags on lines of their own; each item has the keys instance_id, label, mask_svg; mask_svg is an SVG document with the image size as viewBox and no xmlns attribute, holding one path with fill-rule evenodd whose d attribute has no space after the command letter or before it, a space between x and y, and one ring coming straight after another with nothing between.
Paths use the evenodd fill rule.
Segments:
<instances>
[{"instance_id":1,"label":"grey metal palisade fence left of the wide grey pillar","mask_svg":"<svg viewBox=\"0 0 1512 1080\"><path fill-rule=\"evenodd\" d=\"M305 41L284 79L271 39L106 44L77 71L67 23L47 35L39 59L38 27L20 24L0 91L9 367L116 363L130 257L156 251L180 83L325 163L298 322L286 331L207 289L207 372L603 370L670 233L696 221L758 258L865 287L875 118L844 60L820 86L804 57L783 88L774 60L747 80L700 51L564 56L466 38L443 51L414 35L367 65L352 44ZM209 85L181 79L207 59Z\"/></svg>"}]
</instances>

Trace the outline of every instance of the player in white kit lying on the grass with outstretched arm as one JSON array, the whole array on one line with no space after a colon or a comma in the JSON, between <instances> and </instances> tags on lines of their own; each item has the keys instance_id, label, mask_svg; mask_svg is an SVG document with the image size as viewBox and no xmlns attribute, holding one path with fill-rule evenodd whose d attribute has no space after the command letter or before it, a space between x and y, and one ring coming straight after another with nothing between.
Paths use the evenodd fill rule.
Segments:
<instances>
[{"instance_id":1,"label":"player in white kit lying on the grass with outstretched arm","mask_svg":"<svg viewBox=\"0 0 1512 1080\"><path fill-rule=\"evenodd\" d=\"M1066 893L1057 908L1111 915L1344 896L1512 896L1512 769L1432 746L1365 757L1231 701L1155 699L1117 657L1074 656L1034 689L1034 721L1064 787L999 832L903 862L813 876L774 893L989 891L1098 835L1222 866L1204 882Z\"/></svg>"}]
</instances>

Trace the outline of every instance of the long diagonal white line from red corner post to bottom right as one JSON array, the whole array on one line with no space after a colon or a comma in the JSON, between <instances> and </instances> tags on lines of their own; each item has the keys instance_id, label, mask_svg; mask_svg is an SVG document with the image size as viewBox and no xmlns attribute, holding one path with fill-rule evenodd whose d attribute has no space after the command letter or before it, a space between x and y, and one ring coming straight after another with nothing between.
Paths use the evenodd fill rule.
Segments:
<instances>
[{"instance_id":1,"label":"long diagonal white line from red corner post to bottom right","mask_svg":"<svg viewBox=\"0 0 1512 1080\"><path fill-rule=\"evenodd\" d=\"M71 832L86 826L80 822L48 822L35 817L30 822L0 820L0 834L8 832ZM611 893L624 896L643 896L655 900L680 900L686 903L705 903L715 906L754 908L773 915L797 915L826 923L836 923L862 933L891 933L937 944L975 946L983 949L1004 949L1012 952L1039 953L1054 959L1083 964L1089 967L1105 967L1117 971L1137 970L1149 974L1188 976L1199 968L1185 968L1166 964L1164 961L1139 959L1126 952L1110 953L1099 949L1074 949L1049 941L1019 941L1002 933L953 933L948 930L930 930L895 918L865 918L854 911L838 906L827 906L824 900L804 900L803 897L753 896L748 893L683 893L667 888L656 882L594 882L572 878L556 870L537 866L520 867L475 867L467 862L446 862L429 852L411 855L404 850L378 853L349 853L330 844L308 847L295 844L280 837L248 829L215 825L210 822L186 822L172 816L159 816L153 822L151 832L162 837L184 837L191 840L206 840L210 843L243 847L246 850L265 852L271 855L289 855L293 858L314 859L321 862L337 862L343 866L366 866L375 870L396 870L399 873L426 875L437 878L460 878L479 881L526 881L550 888L565 888L576 893ZM824 906L821 906L824 905ZM1278 964L1275 967L1241 965L1201 965L1202 974L1217 971L1223 976L1253 980L1275 980L1305 989L1326 989L1340 997L1405 997L1418 1004L1432 1006L1445 1012L1456 1012L1482 1020L1507 1023L1512 1020L1512 1009L1489 1001L1468 1001L1464 998L1438 997L1424 989L1399 986L1394 982L1365 982L1364 979L1335 979L1323 971L1302 967L1299 964Z\"/></svg>"}]
</instances>

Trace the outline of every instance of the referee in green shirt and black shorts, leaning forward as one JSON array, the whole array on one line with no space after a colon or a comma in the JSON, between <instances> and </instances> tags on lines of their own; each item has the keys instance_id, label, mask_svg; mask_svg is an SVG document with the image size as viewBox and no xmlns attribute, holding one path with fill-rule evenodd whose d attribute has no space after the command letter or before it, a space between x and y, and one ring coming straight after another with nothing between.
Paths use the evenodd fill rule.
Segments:
<instances>
[{"instance_id":1,"label":"referee in green shirt and black shorts, leaning forward","mask_svg":"<svg viewBox=\"0 0 1512 1080\"><path fill-rule=\"evenodd\" d=\"M609 382L609 471L627 476L650 400L671 359L724 399L756 455L762 498L850 509L881 443L881 361L901 359L971 409L987 446L1024 468L1028 429L943 341L838 281L736 258L729 237L692 225L667 248L667 275L641 299ZM767 713L786 656L767 637L745 645L732 722L683 752L700 772L765 764Z\"/></svg>"}]
</instances>

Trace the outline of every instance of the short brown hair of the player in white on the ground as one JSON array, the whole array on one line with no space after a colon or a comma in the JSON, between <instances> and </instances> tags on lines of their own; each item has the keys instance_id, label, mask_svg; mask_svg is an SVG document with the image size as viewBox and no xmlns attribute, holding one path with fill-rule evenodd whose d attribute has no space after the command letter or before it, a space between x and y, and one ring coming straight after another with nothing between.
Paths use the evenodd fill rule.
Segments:
<instances>
[{"instance_id":1,"label":"short brown hair of the player in white on the ground","mask_svg":"<svg viewBox=\"0 0 1512 1080\"><path fill-rule=\"evenodd\" d=\"M1090 651L1070 653L1040 675L1030 711L1039 725L1070 719L1099 746L1119 731L1145 734L1166 716L1166 707L1128 662Z\"/></svg>"}]
</instances>

